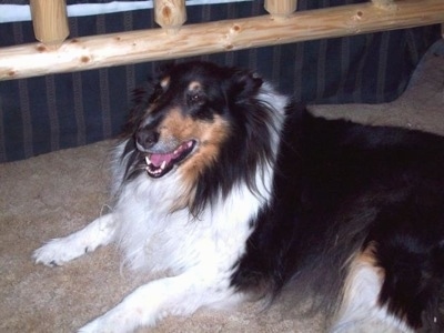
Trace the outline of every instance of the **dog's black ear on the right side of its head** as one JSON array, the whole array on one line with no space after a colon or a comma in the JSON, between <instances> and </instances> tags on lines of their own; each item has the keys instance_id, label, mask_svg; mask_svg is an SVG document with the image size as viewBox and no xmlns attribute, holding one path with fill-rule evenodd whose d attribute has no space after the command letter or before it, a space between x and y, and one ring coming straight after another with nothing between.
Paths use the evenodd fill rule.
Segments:
<instances>
[{"instance_id":1,"label":"dog's black ear on the right side of its head","mask_svg":"<svg viewBox=\"0 0 444 333\"><path fill-rule=\"evenodd\" d=\"M256 73L236 71L231 77L231 93L236 101L254 97L262 87L263 80Z\"/></svg>"}]
</instances>

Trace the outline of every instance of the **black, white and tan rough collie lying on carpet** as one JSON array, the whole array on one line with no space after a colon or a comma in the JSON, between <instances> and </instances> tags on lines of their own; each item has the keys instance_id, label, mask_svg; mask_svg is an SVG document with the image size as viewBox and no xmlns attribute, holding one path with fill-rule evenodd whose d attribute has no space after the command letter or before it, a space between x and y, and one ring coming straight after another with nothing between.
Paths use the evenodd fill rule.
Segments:
<instances>
[{"instance_id":1,"label":"black, white and tan rough collie lying on carpet","mask_svg":"<svg viewBox=\"0 0 444 333\"><path fill-rule=\"evenodd\" d=\"M130 269L165 278L81 332L292 293L319 300L332 332L444 330L443 138L316 118L205 62L165 69L135 100L112 212L34 259L115 242Z\"/></svg>"}]
</instances>

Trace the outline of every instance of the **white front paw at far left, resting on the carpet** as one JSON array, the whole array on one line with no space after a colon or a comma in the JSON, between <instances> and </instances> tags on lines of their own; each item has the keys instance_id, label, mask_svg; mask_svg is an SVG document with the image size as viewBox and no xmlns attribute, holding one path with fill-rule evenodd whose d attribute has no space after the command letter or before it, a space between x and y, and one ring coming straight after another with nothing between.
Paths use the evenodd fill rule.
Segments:
<instances>
[{"instance_id":1,"label":"white front paw at far left, resting on the carpet","mask_svg":"<svg viewBox=\"0 0 444 333\"><path fill-rule=\"evenodd\" d=\"M37 249L32 258L36 263L53 268L63 265L85 252L88 252L88 249L75 246L68 238L63 238L51 240L40 249Z\"/></svg>"}]
</instances>

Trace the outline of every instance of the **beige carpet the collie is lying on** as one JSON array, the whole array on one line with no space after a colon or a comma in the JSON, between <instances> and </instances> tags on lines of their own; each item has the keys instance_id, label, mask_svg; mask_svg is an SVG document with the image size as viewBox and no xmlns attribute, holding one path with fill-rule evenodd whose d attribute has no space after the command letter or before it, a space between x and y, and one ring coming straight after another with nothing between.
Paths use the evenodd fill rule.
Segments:
<instances>
[{"instance_id":1,"label":"beige carpet the collie is lying on","mask_svg":"<svg viewBox=\"0 0 444 333\"><path fill-rule=\"evenodd\" d=\"M379 105L317 105L316 113L444 134L444 41L435 44L398 100ZM107 204L110 141L0 165L0 332L73 332L149 276L120 272L113 248L62 268L34 265L31 253L80 229ZM141 332L145 332L142 330ZM322 332L322 316L285 304L260 312L202 310L169 317L150 332Z\"/></svg>"}]
</instances>

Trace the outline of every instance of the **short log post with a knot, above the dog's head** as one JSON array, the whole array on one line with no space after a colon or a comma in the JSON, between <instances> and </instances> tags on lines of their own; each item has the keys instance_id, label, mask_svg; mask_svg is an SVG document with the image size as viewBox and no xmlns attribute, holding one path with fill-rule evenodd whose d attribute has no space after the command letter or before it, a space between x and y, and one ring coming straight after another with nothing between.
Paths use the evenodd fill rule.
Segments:
<instances>
[{"instance_id":1,"label":"short log post with a knot, above the dog's head","mask_svg":"<svg viewBox=\"0 0 444 333\"><path fill-rule=\"evenodd\" d=\"M175 34L186 21L185 0L154 0L154 21L168 34Z\"/></svg>"}]
</instances>

